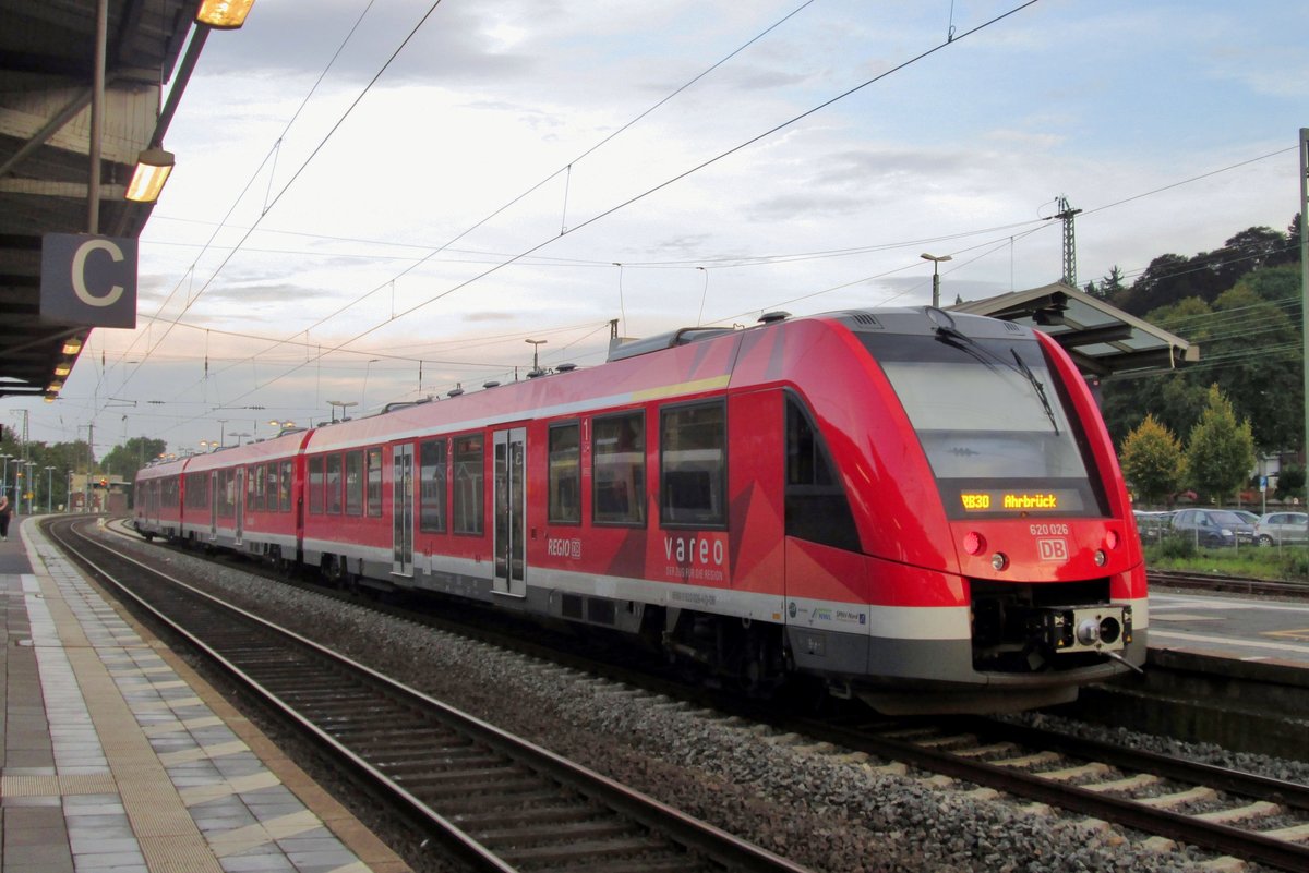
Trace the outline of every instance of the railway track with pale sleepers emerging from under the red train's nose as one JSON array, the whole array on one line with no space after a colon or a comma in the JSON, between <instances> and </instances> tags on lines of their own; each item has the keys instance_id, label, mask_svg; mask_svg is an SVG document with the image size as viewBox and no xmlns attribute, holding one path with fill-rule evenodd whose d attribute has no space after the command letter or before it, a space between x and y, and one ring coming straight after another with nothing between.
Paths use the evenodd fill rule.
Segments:
<instances>
[{"instance_id":1,"label":"railway track with pale sleepers emerging from under the red train's nose","mask_svg":"<svg viewBox=\"0 0 1309 873\"><path fill-rule=\"evenodd\" d=\"M1297 783L988 719L792 729L1241 860L1309 870L1309 787Z\"/></svg>"}]
</instances>

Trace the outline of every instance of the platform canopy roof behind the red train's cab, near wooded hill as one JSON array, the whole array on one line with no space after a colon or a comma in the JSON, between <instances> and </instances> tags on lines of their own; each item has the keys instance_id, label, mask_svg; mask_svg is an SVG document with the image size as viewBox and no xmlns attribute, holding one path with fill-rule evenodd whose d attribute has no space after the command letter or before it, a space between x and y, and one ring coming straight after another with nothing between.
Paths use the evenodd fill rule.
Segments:
<instances>
[{"instance_id":1,"label":"platform canopy roof behind the red train's cab, near wooded hill","mask_svg":"<svg viewBox=\"0 0 1309 873\"><path fill-rule=\"evenodd\" d=\"M1054 337L1088 376L1172 370L1200 359L1200 346L1071 285L1054 282L948 307L990 315Z\"/></svg>"}]
</instances>

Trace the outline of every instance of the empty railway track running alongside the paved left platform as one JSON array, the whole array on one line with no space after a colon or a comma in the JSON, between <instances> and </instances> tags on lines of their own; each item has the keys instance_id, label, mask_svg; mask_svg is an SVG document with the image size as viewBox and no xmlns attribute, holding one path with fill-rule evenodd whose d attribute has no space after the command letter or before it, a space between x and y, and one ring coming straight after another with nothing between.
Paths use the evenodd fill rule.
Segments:
<instances>
[{"instance_id":1,"label":"empty railway track running alongside the paved left platform","mask_svg":"<svg viewBox=\"0 0 1309 873\"><path fill-rule=\"evenodd\" d=\"M805 873L73 528L64 520L48 532L471 869Z\"/></svg>"}]
</instances>

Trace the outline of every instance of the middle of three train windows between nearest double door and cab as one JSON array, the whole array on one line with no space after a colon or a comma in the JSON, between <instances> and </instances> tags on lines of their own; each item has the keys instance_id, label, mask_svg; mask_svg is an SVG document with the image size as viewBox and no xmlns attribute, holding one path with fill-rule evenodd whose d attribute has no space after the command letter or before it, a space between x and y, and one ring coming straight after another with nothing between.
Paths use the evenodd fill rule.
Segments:
<instances>
[{"instance_id":1,"label":"middle of three train windows between nearest double door and cab","mask_svg":"<svg viewBox=\"0 0 1309 873\"><path fill-rule=\"evenodd\" d=\"M592 429L592 472L597 524L645 523L645 414L596 418Z\"/></svg>"}]
</instances>

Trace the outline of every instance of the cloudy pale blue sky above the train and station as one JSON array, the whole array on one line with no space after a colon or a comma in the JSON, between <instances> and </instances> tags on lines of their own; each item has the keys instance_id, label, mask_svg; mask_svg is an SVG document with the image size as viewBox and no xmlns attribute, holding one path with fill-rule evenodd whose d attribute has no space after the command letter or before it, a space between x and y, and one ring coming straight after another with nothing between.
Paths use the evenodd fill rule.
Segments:
<instances>
[{"instance_id":1,"label":"cloudy pale blue sky above the train and station","mask_svg":"<svg viewBox=\"0 0 1309 873\"><path fill-rule=\"evenodd\" d=\"M1289 226L1305 33L1292 0L257 0L165 139L137 329L0 420L198 451L596 366L613 320L923 306L922 254L945 303L1025 290L1059 197L1079 284L1130 282Z\"/></svg>"}]
</instances>

